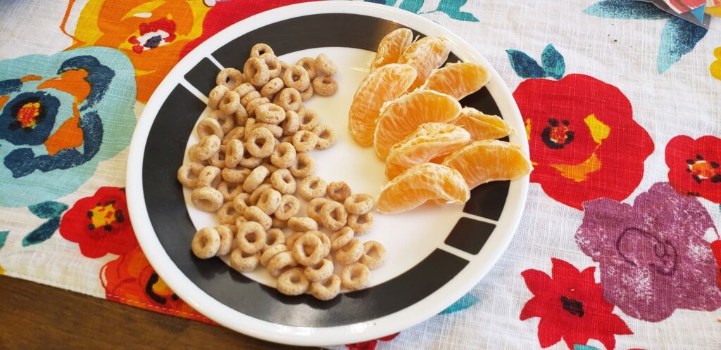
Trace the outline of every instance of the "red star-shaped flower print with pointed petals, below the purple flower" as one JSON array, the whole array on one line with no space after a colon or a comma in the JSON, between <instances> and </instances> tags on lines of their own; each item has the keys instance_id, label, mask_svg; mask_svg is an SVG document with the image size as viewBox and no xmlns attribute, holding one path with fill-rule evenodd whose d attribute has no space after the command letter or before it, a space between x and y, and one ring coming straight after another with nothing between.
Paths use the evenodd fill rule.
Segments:
<instances>
[{"instance_id":1,"label":"red star-shaped flower print with pointed petals, below the purple flower","mask_svg":"<svg viewBox=\"0 0 721 350\"><path fill-rule=\"evenodd\" d=\"M534 295L523 306L521 320L541 318L541 347L563 339L568 349L574 349L573 344L585 345L588 339L596 339L611 350L616 346L616 334L633 333L624 320L612 313L614 305L603 300L601 284L593 277L595 267L580 272L561 259L551 261L552 276L534 269L521 272Z\"/></svg>"}]
</instances>

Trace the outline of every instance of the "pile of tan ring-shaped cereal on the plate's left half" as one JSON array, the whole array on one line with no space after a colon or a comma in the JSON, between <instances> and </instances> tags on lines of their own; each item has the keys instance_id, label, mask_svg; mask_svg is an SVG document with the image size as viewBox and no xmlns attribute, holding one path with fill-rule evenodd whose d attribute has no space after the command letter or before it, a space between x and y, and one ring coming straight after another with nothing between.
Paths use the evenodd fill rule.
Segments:
<instances>
[{"instance_id":1,"label":"pile of tan ring-shaped cereal on the plate's left half","mask_svg":"<svg viewBox=\"0 0 721 350\"><path fill-rule=\"evenodd\" d=\"M354 238L371 230L373 197L352 194L342 181L327 184L314 175L308 155L337 138L303 105L313 94L335 93L335 71L325 54L288 66L261 43L243 72L218 73L208 96L213 112L198 123L200 142L188 149L190 163L177 174L193 189L193 205L216 212L221 223L195 233L195 256L229 254L238 272L266 266L286 295L310 292L330 300L341 287L367 286L370 270L384 263L386 253L381 243ZM307 217L298 216L301 199L308 201ZM340 276L334 256L344 266Z\"/></svg>"}]
</instances>

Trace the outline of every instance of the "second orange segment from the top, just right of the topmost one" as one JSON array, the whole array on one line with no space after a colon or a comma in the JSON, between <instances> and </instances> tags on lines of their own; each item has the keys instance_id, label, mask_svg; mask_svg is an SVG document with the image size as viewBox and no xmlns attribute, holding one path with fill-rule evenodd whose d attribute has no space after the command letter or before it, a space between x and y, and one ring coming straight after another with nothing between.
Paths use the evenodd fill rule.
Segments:
<instances>
[{"instance_id":1,"label":"second orange segment from the top, just right of the topmost one","mask_svg":"<svg viewBox=\"0 0 721 350\"><path fill-rule=\"evenodd\" d=\"M413 42L398 59L398 63L410 64L418 72L410 90L421 86L430 71L446 62L451 53L451 42L443 37L423 37Z\"/></svg>"}]
</instances>

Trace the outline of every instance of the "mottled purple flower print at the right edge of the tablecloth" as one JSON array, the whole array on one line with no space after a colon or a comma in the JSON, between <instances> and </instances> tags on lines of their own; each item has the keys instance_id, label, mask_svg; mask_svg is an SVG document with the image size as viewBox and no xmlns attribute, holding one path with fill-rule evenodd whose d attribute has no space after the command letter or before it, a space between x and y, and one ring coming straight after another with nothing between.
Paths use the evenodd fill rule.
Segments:
<instances>
[{"instance_id":1,"label":"mottled purple flower print at the right edge of the tablecloth","mask_svg":"<svg viewBox=\"0 0 721 350\"><path fill-rule=\"evenodd\" d=\"M698 199L658 183L634 205L603 198L583 207L575 238L601 264L604 299L650 322L678 308L721 308L716 262L703 238L716 228Z\"/></svg>"}]
</instances>

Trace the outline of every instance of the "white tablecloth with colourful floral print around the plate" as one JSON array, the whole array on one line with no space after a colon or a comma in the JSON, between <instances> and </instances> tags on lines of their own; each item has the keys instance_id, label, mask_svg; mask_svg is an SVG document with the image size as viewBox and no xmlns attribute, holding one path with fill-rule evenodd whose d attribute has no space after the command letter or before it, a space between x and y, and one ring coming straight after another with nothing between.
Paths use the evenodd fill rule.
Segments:
<instances>
[{"instance_id":1,"label":"white tablecloth with colourful floral print around the plate","mask_svg":"<svg viewBox=\"0 0 721 350\"><path fill-rule=\"evenodd\" d=\"M4 2L0 274L208 322L138 247L128 143L185 53L299 1ZM632 0L372 2L490 60L535 171L516 238L469 294L339 349L721 349L719 19Z\"/></svg>"}]
</instances>

